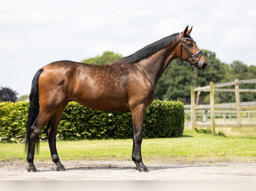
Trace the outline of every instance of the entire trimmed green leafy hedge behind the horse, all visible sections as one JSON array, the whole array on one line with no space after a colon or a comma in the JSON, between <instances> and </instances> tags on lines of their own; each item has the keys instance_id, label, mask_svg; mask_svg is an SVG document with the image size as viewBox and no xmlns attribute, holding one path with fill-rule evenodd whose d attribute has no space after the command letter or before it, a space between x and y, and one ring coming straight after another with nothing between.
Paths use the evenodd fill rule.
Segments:
<instances>
[{"instance_id":1,"label":"entire trimmed green leafy hedge behind the horse, all visible sections","mask_svg":"<svg viewBox=\"0 0 256 191\"><path fill-rule=\"evenodd\" d=\"M0 102L0 139L23 141L29 102ZM184 105L180 101L154 100L146 108L143 138L178 137L184 128ZM43 129L44 131L44 129ZM58 126L57 139L127 139L132 137L131 113L102 112L70 102ZM40 133L46 140L46 134Z\"/></svg>"}]
</instances>

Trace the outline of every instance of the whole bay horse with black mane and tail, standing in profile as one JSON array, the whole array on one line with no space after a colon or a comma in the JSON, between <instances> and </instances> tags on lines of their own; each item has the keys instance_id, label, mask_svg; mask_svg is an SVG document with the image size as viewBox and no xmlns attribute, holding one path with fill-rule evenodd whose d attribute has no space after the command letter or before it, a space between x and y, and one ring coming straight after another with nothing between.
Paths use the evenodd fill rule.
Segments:
<instances>
[{"instance_id":1,"label":"whole bay horse with black mane and tail, standing in profile","mask_svg":"<svg viewBox=\"0 0 256 191\"><path fill-rule=\"evenodd\" d=\"M148 172L142 162L142 123L145 108L154 98L154 89L169 63L176 58L198 70L207 61L189 35L188 26L156 41L134 54L108 65L90 65L57 61L37 71L29 95L26 125L28 171L36 172L34 152L38 151L39 133L46 126L52 161L57 171L66 171L59 161L56 132L62 113L70 101L100 111L131 112L133 124L132 160L140 172ZM177 69L178 70L178 69ZM39 105L40 100L40 105Z\"/></svg>"}]
</instances>

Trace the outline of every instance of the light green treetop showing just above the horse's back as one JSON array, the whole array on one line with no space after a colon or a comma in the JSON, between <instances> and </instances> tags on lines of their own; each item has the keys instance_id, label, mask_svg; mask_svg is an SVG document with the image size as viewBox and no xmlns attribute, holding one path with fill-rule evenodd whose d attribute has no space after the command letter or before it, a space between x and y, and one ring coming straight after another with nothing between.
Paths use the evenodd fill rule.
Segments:
<instances>
[{"instance_id":1,"label":"light green treetop showing just above the horse's back","mask_svg":"<svg viewBox=\"0 0 256 191\"><path fill-rule=\"evenodd\" d=\"M82 62L95 65L105 65L111 64L112 62L115 62L121 58L123 58L123 56L118 53L115 54L112 51L105 51L101 56L97 55L94 58L84 59Z\"/></svg>"}]
</instances>

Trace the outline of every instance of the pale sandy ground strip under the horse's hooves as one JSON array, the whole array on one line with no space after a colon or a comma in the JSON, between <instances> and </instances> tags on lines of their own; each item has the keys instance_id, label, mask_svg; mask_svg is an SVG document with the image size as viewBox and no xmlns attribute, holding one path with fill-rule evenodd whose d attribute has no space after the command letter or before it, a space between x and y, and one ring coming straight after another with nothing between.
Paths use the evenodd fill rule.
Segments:
<instances>
[{"instance_id":1,"label":"pale sandy ground strip under the horse's hooves","mask_svg":"<svg viewBox=\"0 0 256 191\"><path fill-rule=\"evenodd\" d=\"M0 162L0 180L256 180L256 161L150 162L148 173L135 170L132 161L35 162L38 172L27 172L27 162Z\"/></svg>"}]
</instances>

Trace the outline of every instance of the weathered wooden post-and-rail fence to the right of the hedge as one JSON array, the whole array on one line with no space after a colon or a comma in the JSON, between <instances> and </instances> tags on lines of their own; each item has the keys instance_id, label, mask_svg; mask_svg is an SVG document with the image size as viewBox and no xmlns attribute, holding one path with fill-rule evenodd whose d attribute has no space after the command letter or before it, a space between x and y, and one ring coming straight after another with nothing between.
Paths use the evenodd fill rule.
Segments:
<instances>
[{"instance_id":1,"label":"weathered wooden post-and-rail fence to the right of the hedge","mask_svg":"<svg viewBox=\"0 0 256 191\"><path fill-rule=\"evenodd\" d=\"M240 92L254 92L256 89L239 89L239 84L256 83L256 79L251 80L234 80L232 82L214 84L210 82L209 86L205 87L191 87L191 129L195 129L196 126L208 127L211 126L212 134L215 135L215 127L246 127L256 126L256 122L253 123L241 123L241 109L256 109L256 101L240 102ZM235 89L220 89L226 86L235 86ZM197 100L195 103L195 92L197 92ZM210 104L198 105L198 100L201 92L210 92ZM235 92L235 103L214 103L214 92ZM197 110L203 109L205 113L210 109L211 122L197 122ZM236 122L215 122L215 109L235 109L236 110ZM225 113L225 112L224 112ZM203 117L204 118L204 117ZM226 118L226 117L225 117ZM204 120L203 120L204 121ZM207 120L206 120L207 121Z\"/></svg>"}]
</instances>

